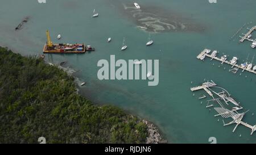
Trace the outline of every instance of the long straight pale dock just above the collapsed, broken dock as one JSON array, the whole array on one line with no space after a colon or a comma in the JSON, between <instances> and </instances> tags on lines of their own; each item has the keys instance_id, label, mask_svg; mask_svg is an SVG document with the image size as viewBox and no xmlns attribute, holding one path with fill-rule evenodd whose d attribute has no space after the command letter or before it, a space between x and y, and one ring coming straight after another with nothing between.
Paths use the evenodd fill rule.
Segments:
<instances>
[{"instance_id":1,"label":"long straight pale dock just above the collapsed, broken dock","mask_svg":"<svg viewBox=\"0 0 256 155\"><path fill-rule=\"evenodd\" d=\"M256 28L256 27L255 27ZM230 61L227 61L227 60L225 60L225 61L223 61L223 60L221 60L221 58L218 58L218 57L216 57L216 56L211 56L211 55L208 55L206 52L207 52L207 50L209 50L209 49L204 49L196 58L198 58L199 60L200 60L200 57L201 56L203 56L203 55L205 55L206 57L209 57L209 58L211 58L211 59L214 59L214 60L217 60L217 61L220 61L221 62L221 64L223 64L223 63L225 63L225 64L228 64L228 65L231 65L232 66L232 68L234 68L234 67L236 67L236 68L238 68L238 69L242 69L242 70L246 70L247 72L250 72L250 73L254 73L254 74L256 74L256 71L255 70L251 70L251 69L247 69L247 68L243 68L242 66L240 66L240 65L237 65L237 64L232 64Z\"/></svg>"}]
</instances>

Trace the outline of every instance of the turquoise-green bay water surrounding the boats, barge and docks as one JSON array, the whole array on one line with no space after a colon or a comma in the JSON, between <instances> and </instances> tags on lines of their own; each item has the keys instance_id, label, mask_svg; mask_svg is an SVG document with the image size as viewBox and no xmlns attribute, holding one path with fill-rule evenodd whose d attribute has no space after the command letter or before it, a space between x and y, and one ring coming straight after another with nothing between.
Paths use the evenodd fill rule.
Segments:
<instances>
[{"instance_id":1,"label":"turquoise-green bay water surrounding the boats, barge and docks","mask_svg":"<svg viewBox=\"0 0 256 155\"><path fill-rule=\"evenodd\" d=\"M50 30L55 43L58 41L57 34L61 33L63 43L85 42L93 45L96 52L47 55L46 60L53 64L68 61L67 66L76 70L75 76L88 83L80 88L82 94L98 104L114 104L151 120L169 143L209 143L208 139L212 136L217 138L217 143L256 143L255 133L250 136L250 129L241 125L233 133L234 124L223 127L221 118L217 122L218 118L213 116L216 112L209 112L200 104L198 97L203 91L196 92L195 96L190 91L190 87L199 85L204 79L212 79L227 89L246 110L250 110L243 121L256 124L255 116L251 116L256 114L255 75L244 72L240 76L241 71L237 74L228 72L228 65L218 68L220 63L217 61L196 59L204 48L209 48L220 51L218 55L229 55L229 59L237 56L239 63L248 54L251 60L256 51L250 48L250 43L245 41L240 44L239 34L234 40L230 37L245 23L249 24L240 34L246 32L246 27L256 25L256 1L226 0L210 4L207 0L138 0L142 11L155 14L162 22L185 26L184 29L152 33L151 38L155 42L151 47L145 46L149 32L137 28L141 23L134 19L134 10L125 9L133 6L134 1L46 1L46 4L36 0L2 1L0 45L24 56L40 55L46 43L46 30ZM100 13L98 18L91 18L93 9ZM14 31L26 16L30 20L22 30ZM112 37L111 43L106 43L108 37ZM123 37L128 48L120 52ZM159 85L149 87L147 81L142 80L98 80L100 68L97 62L109 60L110 55L125 60L158 59Z\"/></svg>"}]
</instances>

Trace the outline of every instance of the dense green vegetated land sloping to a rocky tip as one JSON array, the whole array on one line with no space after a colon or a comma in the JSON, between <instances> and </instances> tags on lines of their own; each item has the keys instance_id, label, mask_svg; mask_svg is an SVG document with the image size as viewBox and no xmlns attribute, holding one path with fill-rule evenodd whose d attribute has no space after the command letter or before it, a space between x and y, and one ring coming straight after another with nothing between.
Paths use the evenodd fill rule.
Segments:
<instances>
[{"instance_id":1,"label":"dense green vegetated land sloping to a rocky tip","mask_svg":"<svg viewBox=\"0 0 256 155\"><path fill-rule=\"evenodd\" d=\"M146 120L77 94L74 77L0 47L0 143L167 143Z\"/></svg>"}]
</instances>

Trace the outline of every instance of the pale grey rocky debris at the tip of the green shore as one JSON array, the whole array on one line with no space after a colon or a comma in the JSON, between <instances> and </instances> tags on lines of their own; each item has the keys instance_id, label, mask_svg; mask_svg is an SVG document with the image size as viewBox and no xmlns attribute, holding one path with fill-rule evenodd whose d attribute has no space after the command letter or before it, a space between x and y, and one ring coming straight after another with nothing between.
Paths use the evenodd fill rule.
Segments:
<instances>
[{"instance_id":1,"label":"pale grey rocky debris at the tip of the green shore","mask_svg":"<svg viewBox=\"0 0 256 155\"><path fill-rule=\"evenodd\" d=\"M149 137L146 139L146 144L165 144L167 143L167 140L164 140L158 131L158 128L155 127L155 125L151 122L148 122L147 120L142 120L143 123L147 125L147 131L149 134Z\"/></svg>"}]
</instances>

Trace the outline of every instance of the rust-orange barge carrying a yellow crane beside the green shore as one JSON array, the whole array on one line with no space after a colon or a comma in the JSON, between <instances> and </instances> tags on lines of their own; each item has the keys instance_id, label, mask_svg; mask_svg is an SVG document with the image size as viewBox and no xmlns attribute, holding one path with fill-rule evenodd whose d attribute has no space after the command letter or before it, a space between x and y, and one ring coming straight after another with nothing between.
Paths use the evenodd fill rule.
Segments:
<instances>
[{"instance_id":1,"label":"rust-orange barge carrying a yellow crane beside the green shore","mask_svg":"<svg viewBox=\"0 0 256 155\"><path fill-rule=\"evenodd\" d=\"M44 45L43 53L85 53L85 51L94 51L94 48L85 44L53 44L49 31L46 31L47 42Z\"/></svg>"}]
</instances>

